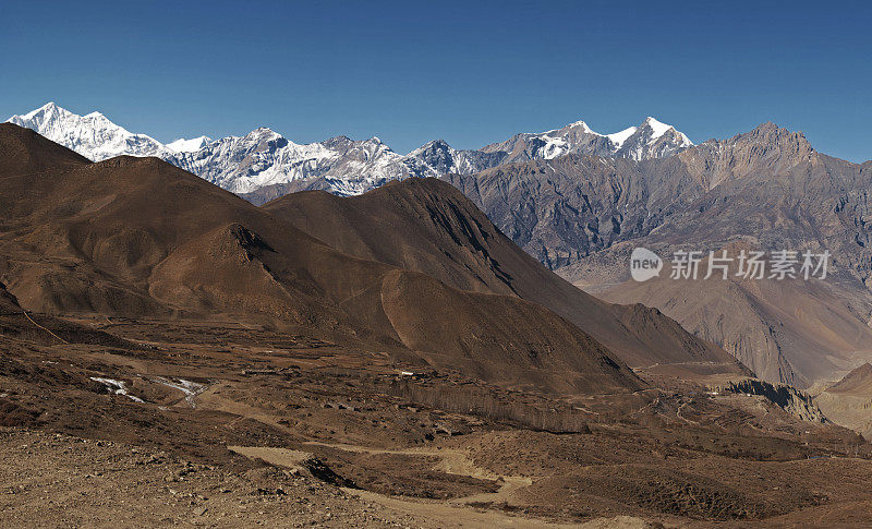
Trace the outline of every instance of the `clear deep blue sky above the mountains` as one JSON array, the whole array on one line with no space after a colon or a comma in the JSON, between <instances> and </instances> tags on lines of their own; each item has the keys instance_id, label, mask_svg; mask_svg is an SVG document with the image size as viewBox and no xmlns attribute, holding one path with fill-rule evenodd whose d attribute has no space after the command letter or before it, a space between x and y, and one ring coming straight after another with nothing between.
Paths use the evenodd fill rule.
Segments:
<instances>
[{"instance_id":1,"label":"clear deep blue sky above the mountains","mask_svg":"<svg viewBox=\"0 0 872 529\"><path fill-rule=\"evenodd\" d=\"M867 2L0 2L0 117L48 100L168 142L266 125L477 148L646 116L872 158Z\"/></svg>"}]
</instances>

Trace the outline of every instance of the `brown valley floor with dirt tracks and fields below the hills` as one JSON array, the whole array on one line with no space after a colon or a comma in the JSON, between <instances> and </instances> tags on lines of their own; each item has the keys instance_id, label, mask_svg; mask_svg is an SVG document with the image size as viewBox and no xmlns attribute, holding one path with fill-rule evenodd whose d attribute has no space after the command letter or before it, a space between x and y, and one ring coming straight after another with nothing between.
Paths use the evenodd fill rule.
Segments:
<instances>
[{"instance_id":1,"label":"brown valley floor with dirt tracks and fields below the hills","mask_svg":"<svg viewBox=\"0 0 872 529\"><path fill-rule=\"evenodd\" d=\"M872 521L862 438L675 374L570 399L251 325L66 321L94 334L0 341L5 527Z\"/></svg>"}]
</instances>

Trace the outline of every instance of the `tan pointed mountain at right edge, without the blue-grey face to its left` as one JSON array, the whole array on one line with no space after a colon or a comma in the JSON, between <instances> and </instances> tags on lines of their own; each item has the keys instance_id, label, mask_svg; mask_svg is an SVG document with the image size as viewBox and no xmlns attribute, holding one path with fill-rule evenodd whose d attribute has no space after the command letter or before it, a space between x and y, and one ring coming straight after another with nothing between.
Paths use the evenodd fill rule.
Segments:
<instances>
[{"instance_id":1,"label":"tan pointed mountain at right edge, without the blue-grey face to its left","mask_svg":"<svg viewBox=\"0 0 872 529\"><path fill-rule=\"evenodd\" d=\"M611 301L658 306L771 382L808 386L872 358L868 165L816 153L801 134L771 123L678 159L698 183L692 195L699 197L644 237L582 257L560 273L579 285L605 285ZM667 257L680 249L731 248L734 255L740 249L828 251L832 260L824 281L615 286L629 279L626 263L633 245ZM720 310L694 309L714 302Z\"/></svg>"}]
</instances>

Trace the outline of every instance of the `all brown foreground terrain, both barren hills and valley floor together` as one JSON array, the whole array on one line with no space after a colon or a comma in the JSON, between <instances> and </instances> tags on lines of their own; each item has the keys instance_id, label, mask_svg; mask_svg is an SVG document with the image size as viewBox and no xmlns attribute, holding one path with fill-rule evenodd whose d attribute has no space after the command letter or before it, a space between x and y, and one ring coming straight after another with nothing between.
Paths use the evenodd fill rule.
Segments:
<instances>
[{"instance_id":1,"label":"all brown foreground terrain, both barren hills and valley floor together","mask_svg":"<svg viewBox=\"0 0 872 529\"><path fill-rule=\"evenodd\" d=\"M3 526L872 522L826 407L445 182L257 207L2 124L0 183Z\"/></svg>"}]
</instances>

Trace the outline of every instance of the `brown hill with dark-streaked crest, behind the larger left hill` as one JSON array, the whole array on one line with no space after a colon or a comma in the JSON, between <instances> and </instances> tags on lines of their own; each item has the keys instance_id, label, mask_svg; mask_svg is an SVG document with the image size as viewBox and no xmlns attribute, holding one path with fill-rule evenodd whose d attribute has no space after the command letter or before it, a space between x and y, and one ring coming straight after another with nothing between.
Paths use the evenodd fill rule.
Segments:
<instances>
[{"instance_id":1,"label":"brown hill with dark-streaked crest, behind the larger left hill","mask_svg":"<svg viewBox=\"0 0 872 529\"><path fill-rule=\"evenodd\" d=\"M436 179L390 182L361 196L323 191L286 195L263 206L341 250L414 269L463 290L517 296L590 333L632 366L705 364L744 369L656 309L603 302L521 250L459 190Z\"/></svg>"}]
</instances>

